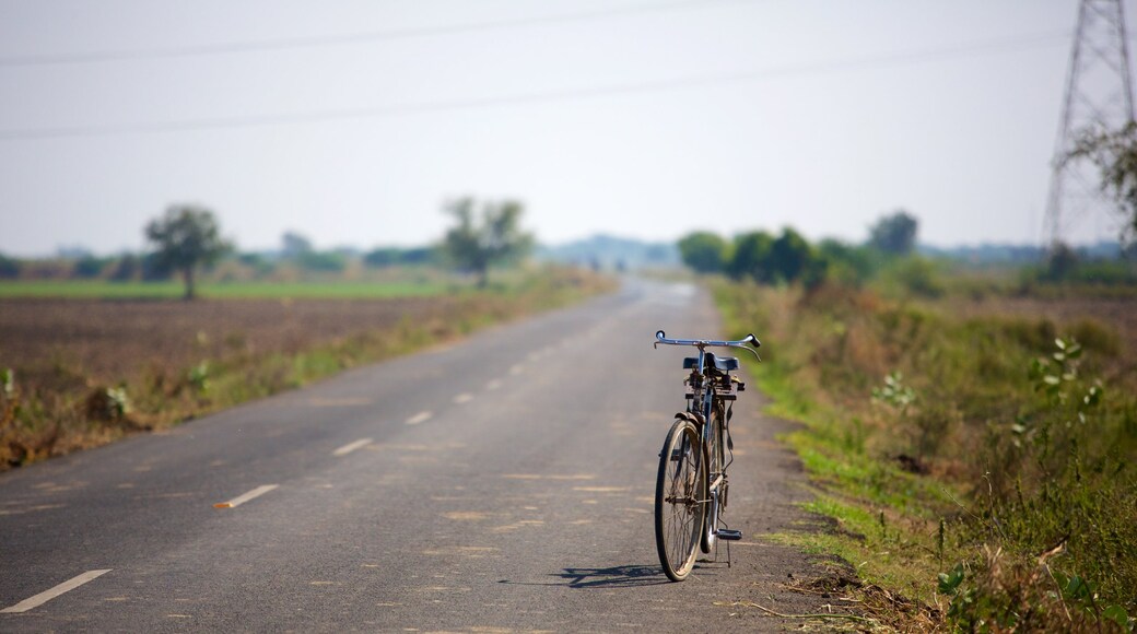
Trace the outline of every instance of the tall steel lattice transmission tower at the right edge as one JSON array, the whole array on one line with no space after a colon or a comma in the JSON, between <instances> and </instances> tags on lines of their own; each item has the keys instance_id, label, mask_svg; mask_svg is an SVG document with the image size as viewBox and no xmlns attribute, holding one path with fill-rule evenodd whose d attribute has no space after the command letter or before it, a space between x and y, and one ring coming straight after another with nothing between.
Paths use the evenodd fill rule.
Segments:
<instances>
[{"instance_id":1,"label":"tall steel lattice transmission tower at the right edge","mask_svg":"<svg viewBox=\"0 0 1137 634\"><path fill-rule=\"evenodd\" d=\"M1052 248L1072 239L1080 220L1115 216L1097 167L1088 158L1067 157L1081 134L1117 132L1131 120L1134 93L1121 0L1081 0L1046 205L1044 231Z\"/></svg>"}]
</instances>

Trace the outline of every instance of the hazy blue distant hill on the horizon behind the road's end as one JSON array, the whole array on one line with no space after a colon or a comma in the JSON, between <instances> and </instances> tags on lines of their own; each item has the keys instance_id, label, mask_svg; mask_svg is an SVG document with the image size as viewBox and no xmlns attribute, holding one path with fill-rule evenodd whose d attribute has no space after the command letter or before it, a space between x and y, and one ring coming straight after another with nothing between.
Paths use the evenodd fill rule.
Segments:
<instances>
[{"instance_id":1,"label":"hazy blue distant hill on the horizon behind the road's end","mask_svg":"<svg viewBox=\"0 0 1137 634\"><path fill-rule=\"evenodd\" d=\"M681 266L679 248L673 242L644 242L605 234L557 245L539 244L534 256L608 270Z\"/></svg>"}]
</instances>

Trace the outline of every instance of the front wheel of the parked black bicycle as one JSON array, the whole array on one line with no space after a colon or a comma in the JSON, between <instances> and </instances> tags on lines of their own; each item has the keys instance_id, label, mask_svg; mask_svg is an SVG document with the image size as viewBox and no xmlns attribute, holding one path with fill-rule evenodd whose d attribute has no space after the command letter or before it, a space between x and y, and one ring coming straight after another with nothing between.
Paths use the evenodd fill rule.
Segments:
<instances>
[{"instance_id":1,"label":"front wheel of the parked black bicycle","mask_svg":"<svg viewBox=\"0 0 1137 634\"><path fill-rule=\"evenodd\" d=\"M698 431L687 420L675 420L659 452L655 486L655 545L671 581L686 579L695 567L706 509L706 477Z\"/></svg>"}]
</instances>

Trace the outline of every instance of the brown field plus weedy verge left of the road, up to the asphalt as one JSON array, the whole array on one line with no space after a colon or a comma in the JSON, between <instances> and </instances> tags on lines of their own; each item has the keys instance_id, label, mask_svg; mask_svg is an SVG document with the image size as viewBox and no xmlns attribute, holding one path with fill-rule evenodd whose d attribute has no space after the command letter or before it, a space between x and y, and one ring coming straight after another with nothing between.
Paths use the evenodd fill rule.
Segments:
<instances>
[{"instance_id":1,"label":"brown field plus weedy verge left of the road, up to the asphalt","mask_svg":"<svg viewBox=\"0 0 1137 634\"><path fill-rule=\"evenodd\" d=\"M511 291L423 298L0 299L0 470L612 287L564 270Z\"/></svg>"}]
</instances>

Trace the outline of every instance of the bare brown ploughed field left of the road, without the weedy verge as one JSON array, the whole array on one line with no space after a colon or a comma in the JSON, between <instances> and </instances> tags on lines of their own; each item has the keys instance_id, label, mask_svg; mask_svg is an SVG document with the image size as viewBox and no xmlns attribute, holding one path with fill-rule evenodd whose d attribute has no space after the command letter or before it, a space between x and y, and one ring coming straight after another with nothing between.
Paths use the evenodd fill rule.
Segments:
<instances>
[{"instance_id":1,"label":"bare brown ploughed field left of the road, without the weedy verge","mask_svg":"<svg viewBox=\"0 0 1137 634\"><path fill-rule=\"evenodd\" d=\"M446 329L456 301L389 300L100 301L0 300L0 368L41 386L65 376L113 385L204 359L282 352L406 320Z\"/></svg>"}]
</instances>

